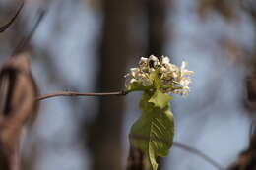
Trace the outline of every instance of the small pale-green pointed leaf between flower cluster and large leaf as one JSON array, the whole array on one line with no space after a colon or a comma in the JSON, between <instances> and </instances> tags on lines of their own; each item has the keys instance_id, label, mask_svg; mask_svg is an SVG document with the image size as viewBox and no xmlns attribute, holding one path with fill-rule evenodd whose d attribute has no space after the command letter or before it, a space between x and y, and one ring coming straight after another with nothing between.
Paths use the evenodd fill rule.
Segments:
<instances>
[{"instance_id":1,"label":"small pale-green pointed leaf between flower cluster and large leaf","mask_svg":"<svg viewBox=\"0 0 256 170\"><path fill-rule=\"evenodd\" d=\"M170 95L164 94L160 91L160 89L157 89L154 95L150 98L149 102L153 103L156 107L163 109L168 105L170 100L172 100Z\"/></svg>"}]
</instances>

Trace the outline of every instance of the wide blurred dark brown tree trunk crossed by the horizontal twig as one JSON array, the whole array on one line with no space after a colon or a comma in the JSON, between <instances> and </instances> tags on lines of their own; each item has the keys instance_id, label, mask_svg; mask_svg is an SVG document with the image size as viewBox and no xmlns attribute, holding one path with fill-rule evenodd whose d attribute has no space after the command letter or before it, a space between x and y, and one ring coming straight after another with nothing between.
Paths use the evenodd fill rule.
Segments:
<instances>
[{"instance_id":1,"label":"wide blurred dark brown tree trunk crossed by the horizontal twig","mask_svg":"<svg viewBox=\"0 0 256 170\"><path fill-rule=\"evenodd\" d=\"M100 46L100 91L124 88L123 75L131 53L131 0L103 1L103 28ZM93 170L123 169L121 132L124 116L123 97L100 98L99 112L89 132Z\"/></svg>"}]
</instances>

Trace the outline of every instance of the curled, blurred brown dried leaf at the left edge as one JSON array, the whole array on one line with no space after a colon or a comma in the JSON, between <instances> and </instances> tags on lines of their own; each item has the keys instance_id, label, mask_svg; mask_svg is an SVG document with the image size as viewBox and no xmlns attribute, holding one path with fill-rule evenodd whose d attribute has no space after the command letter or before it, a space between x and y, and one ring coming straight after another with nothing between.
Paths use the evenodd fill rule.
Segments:
<instances>
[{"instance_id":1,"label":"curled, blurred brown dried leaf at the left edge","mask_svg":"<svg viewBox=\"0 0 256 170\"><path fill-rule=\"evenodd\" d=\"M0 70L1 169L20 170L20 137L37 110L36 96L29 57L11 58Z\"/></svg>"}]
</instances>

